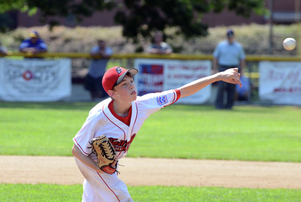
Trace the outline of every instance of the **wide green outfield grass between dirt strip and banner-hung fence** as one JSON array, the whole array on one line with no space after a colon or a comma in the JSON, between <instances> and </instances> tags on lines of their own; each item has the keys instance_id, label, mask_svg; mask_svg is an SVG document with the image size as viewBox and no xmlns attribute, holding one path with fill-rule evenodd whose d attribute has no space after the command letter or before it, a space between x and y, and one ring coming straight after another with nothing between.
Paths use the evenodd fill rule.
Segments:
<instances>
[{"instance_id":1,"label":"wide green outfield grass between dirt strip and banner-hung fence","mask_svg":"<svg viewBox=\"0 0 301 202\"><path fill-rule=\"evenodd\" d=\"M0 154L71 156L95 104L1 102ZM300 114L291 106L170 105L145 121L127 156L301 162ZM15 138L22 141L12 147Z\"/></svg>"}]
</instances>

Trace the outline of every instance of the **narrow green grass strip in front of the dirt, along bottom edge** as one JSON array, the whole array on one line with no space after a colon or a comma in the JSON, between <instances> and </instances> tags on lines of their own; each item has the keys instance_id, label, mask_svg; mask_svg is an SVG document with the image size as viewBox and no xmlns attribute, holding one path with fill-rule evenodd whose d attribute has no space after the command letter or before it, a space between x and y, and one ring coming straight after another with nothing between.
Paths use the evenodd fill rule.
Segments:
<instances>
[{"instance_id":1,"label":"narrow green grass strip in front of the dirt, along bottom edge","mask_svg":"<svg viewBox=\"0 0 301 202\"><path fill-rule=\"evenodd\" d=\"M128 187L135 202L299 202L297 189ZM80 202L81 185L0 184L1 202Z\"/></svg>"}]
</instances>

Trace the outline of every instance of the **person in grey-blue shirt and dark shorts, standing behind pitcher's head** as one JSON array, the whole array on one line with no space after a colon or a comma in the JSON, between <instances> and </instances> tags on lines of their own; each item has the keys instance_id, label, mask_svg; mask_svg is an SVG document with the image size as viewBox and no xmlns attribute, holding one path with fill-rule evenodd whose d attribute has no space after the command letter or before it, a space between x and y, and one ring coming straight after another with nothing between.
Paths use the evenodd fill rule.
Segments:
<instances>
[{"instance_id":1,"label":"person in grey-blue shirt and dark shorts, standing behind pitcher's head","mask_svg":"<svg viewBox=\"0 0 301 202\"><path fill-rule=\"evenodd\" d=\"M85 78L85 89L90 91L92 100L103 98L107 95L102 86L102 78L106 71L107 62L113 54L113 50L106 46L104 40L98 40L98 45L91 49L90 54L98 59L92 59L89 72Z\"/></svg>"}]
</instances>

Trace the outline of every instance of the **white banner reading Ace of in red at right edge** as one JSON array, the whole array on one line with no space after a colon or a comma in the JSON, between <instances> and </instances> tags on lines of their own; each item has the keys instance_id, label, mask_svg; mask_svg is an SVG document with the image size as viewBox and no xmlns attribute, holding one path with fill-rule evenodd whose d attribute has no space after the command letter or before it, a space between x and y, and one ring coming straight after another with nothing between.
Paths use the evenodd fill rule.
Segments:
<instances>
[{"instance_id":1,"label":"white banner reading Ace of in red at right edge","mask_svg":"<svg viewBox=\"0 0 301 202\"><path fill-rule=\"evenodd\" d=\"M301 105L301 63L259 62L259 98L275 104Z\"/></svg>"}]
</instances>

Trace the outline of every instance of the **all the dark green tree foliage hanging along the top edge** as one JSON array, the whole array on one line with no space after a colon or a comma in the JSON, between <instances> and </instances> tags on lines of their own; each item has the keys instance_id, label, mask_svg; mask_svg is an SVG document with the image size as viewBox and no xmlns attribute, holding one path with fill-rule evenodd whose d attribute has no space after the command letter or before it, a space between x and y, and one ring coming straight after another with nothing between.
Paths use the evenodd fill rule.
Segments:
<instances>
[{"instance_id":1,"label":"all the dark green tree foliage hanging along the top edge","mask_svg":"<svg viewBox=\"0 0 301 202\"><path fill-rule=\"evenodd\" d=\"M0 2L0 12L27 11L29 15L40 11L41 22L51 26L58 22L51 16L73 15L77 21L95 11L117 8L115 22L123 26L123 35L136 39L138 35L150 36L154 30L176 27L178 34L186 37L205 36L208 25L202 23L202 14L221 12L225 8L237 15L249 17L251 12L262 14L262 0L5 0Z\"/></svg>"}]
</instances>

